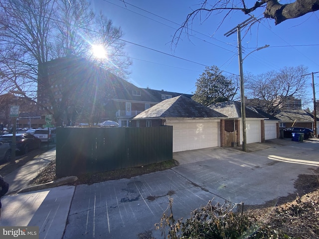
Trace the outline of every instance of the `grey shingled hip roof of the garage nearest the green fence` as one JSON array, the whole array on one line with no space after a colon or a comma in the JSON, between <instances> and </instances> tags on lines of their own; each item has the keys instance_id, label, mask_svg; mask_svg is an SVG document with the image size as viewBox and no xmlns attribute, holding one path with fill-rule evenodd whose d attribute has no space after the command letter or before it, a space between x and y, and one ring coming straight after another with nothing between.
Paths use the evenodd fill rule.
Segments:
<instances>
[{"instance_id":1,"label":"grey shingled hip roof of the garage nearest the green fence","mask_svg":"<svg viewBox=\"0 0 319 239\"><path fill-rule=\"evenodd\" d=\"M181 95L164 100L150 109L140 113L133 119L218 117L226 118L225 115Z\"/></svg>"}]
</instances>

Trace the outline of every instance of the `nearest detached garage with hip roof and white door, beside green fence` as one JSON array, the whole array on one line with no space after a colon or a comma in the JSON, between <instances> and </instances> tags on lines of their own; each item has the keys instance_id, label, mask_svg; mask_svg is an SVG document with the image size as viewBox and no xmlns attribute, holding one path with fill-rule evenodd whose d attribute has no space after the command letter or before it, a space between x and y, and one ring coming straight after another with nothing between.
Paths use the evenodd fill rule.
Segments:
<instances>
[{"instance_id":1,"label":"nearest detached garage with hip roof and white door, beside green fence","mask_svg":"<svg viewBox=\"0 0 319 239\"><path fill-rule=\"evenodd\" d=\"M134 126L173 126L173 152L221 145L220 120L226 119L186 96L164 100L133 118Z\"/></svg>"}]
</instances>

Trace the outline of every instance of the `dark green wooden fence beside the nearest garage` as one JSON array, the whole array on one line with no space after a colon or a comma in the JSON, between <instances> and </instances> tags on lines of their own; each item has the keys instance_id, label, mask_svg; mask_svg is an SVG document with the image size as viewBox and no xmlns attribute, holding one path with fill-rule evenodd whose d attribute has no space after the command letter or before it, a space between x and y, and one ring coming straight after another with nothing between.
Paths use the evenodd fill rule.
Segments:
<instances>
[{"instance_id":1,"label":"dark green wooden fence beside the nearest garage","mask_svg":"<svg viewBox=\"0 0 319 239\"><path fill-rule=\"evenodd\" d=\"M56 176L105 172L172 159L172 126L58 127Z\"/></svg>"}]
</instances>

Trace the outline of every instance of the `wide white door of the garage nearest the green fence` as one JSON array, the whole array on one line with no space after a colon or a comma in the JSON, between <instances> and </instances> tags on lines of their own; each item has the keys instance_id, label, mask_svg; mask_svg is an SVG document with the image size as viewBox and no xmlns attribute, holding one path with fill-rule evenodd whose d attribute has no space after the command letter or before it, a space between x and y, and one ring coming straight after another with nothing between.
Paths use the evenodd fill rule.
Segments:
<instances>
[{"instance_id":1,"label":"wide white door of the garage nearest the green fence","mask_svg":"<svg viewBox=\"0 0 319 239\"><path fill-rule=\"evenodd\" d=\"M173 152L218 146L218 122L189 119L166 121L173 126Z\"/></svg>"}]
</instances>

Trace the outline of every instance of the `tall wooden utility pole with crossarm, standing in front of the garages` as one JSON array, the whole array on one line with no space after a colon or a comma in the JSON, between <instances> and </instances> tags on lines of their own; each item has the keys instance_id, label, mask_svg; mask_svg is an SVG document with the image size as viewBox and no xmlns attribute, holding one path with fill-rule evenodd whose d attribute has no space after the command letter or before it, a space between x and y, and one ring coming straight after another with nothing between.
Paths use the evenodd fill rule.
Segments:
<instances>
[{"instance_id":1,"label":"tall wooden utility pole with crossarm, standing in front of the garages","mask_svg":"<svg viewBox=\"0 0 319 239\"><path fill-rule=\"evenodd\" d=\"M241 49L241 35L240 29L247 26L248 24L252 24L256 21L256 19L251 16L247 20L238 24L237 27L234 27L230 31L226 32L224 36L228 37L231 34L237 32L237 41L238 41L238 61L239 61L239 76L240 76L240 103L241 103L241 120L242 120L242 128L243 128L243 142L242 149L244 152L248 152L247 149L247 136L246 136L246 111L245 111L245 91L244 91L244 73L243 73L243 59L242 59L242 49Z\"/></svg>"}]
</instances>

